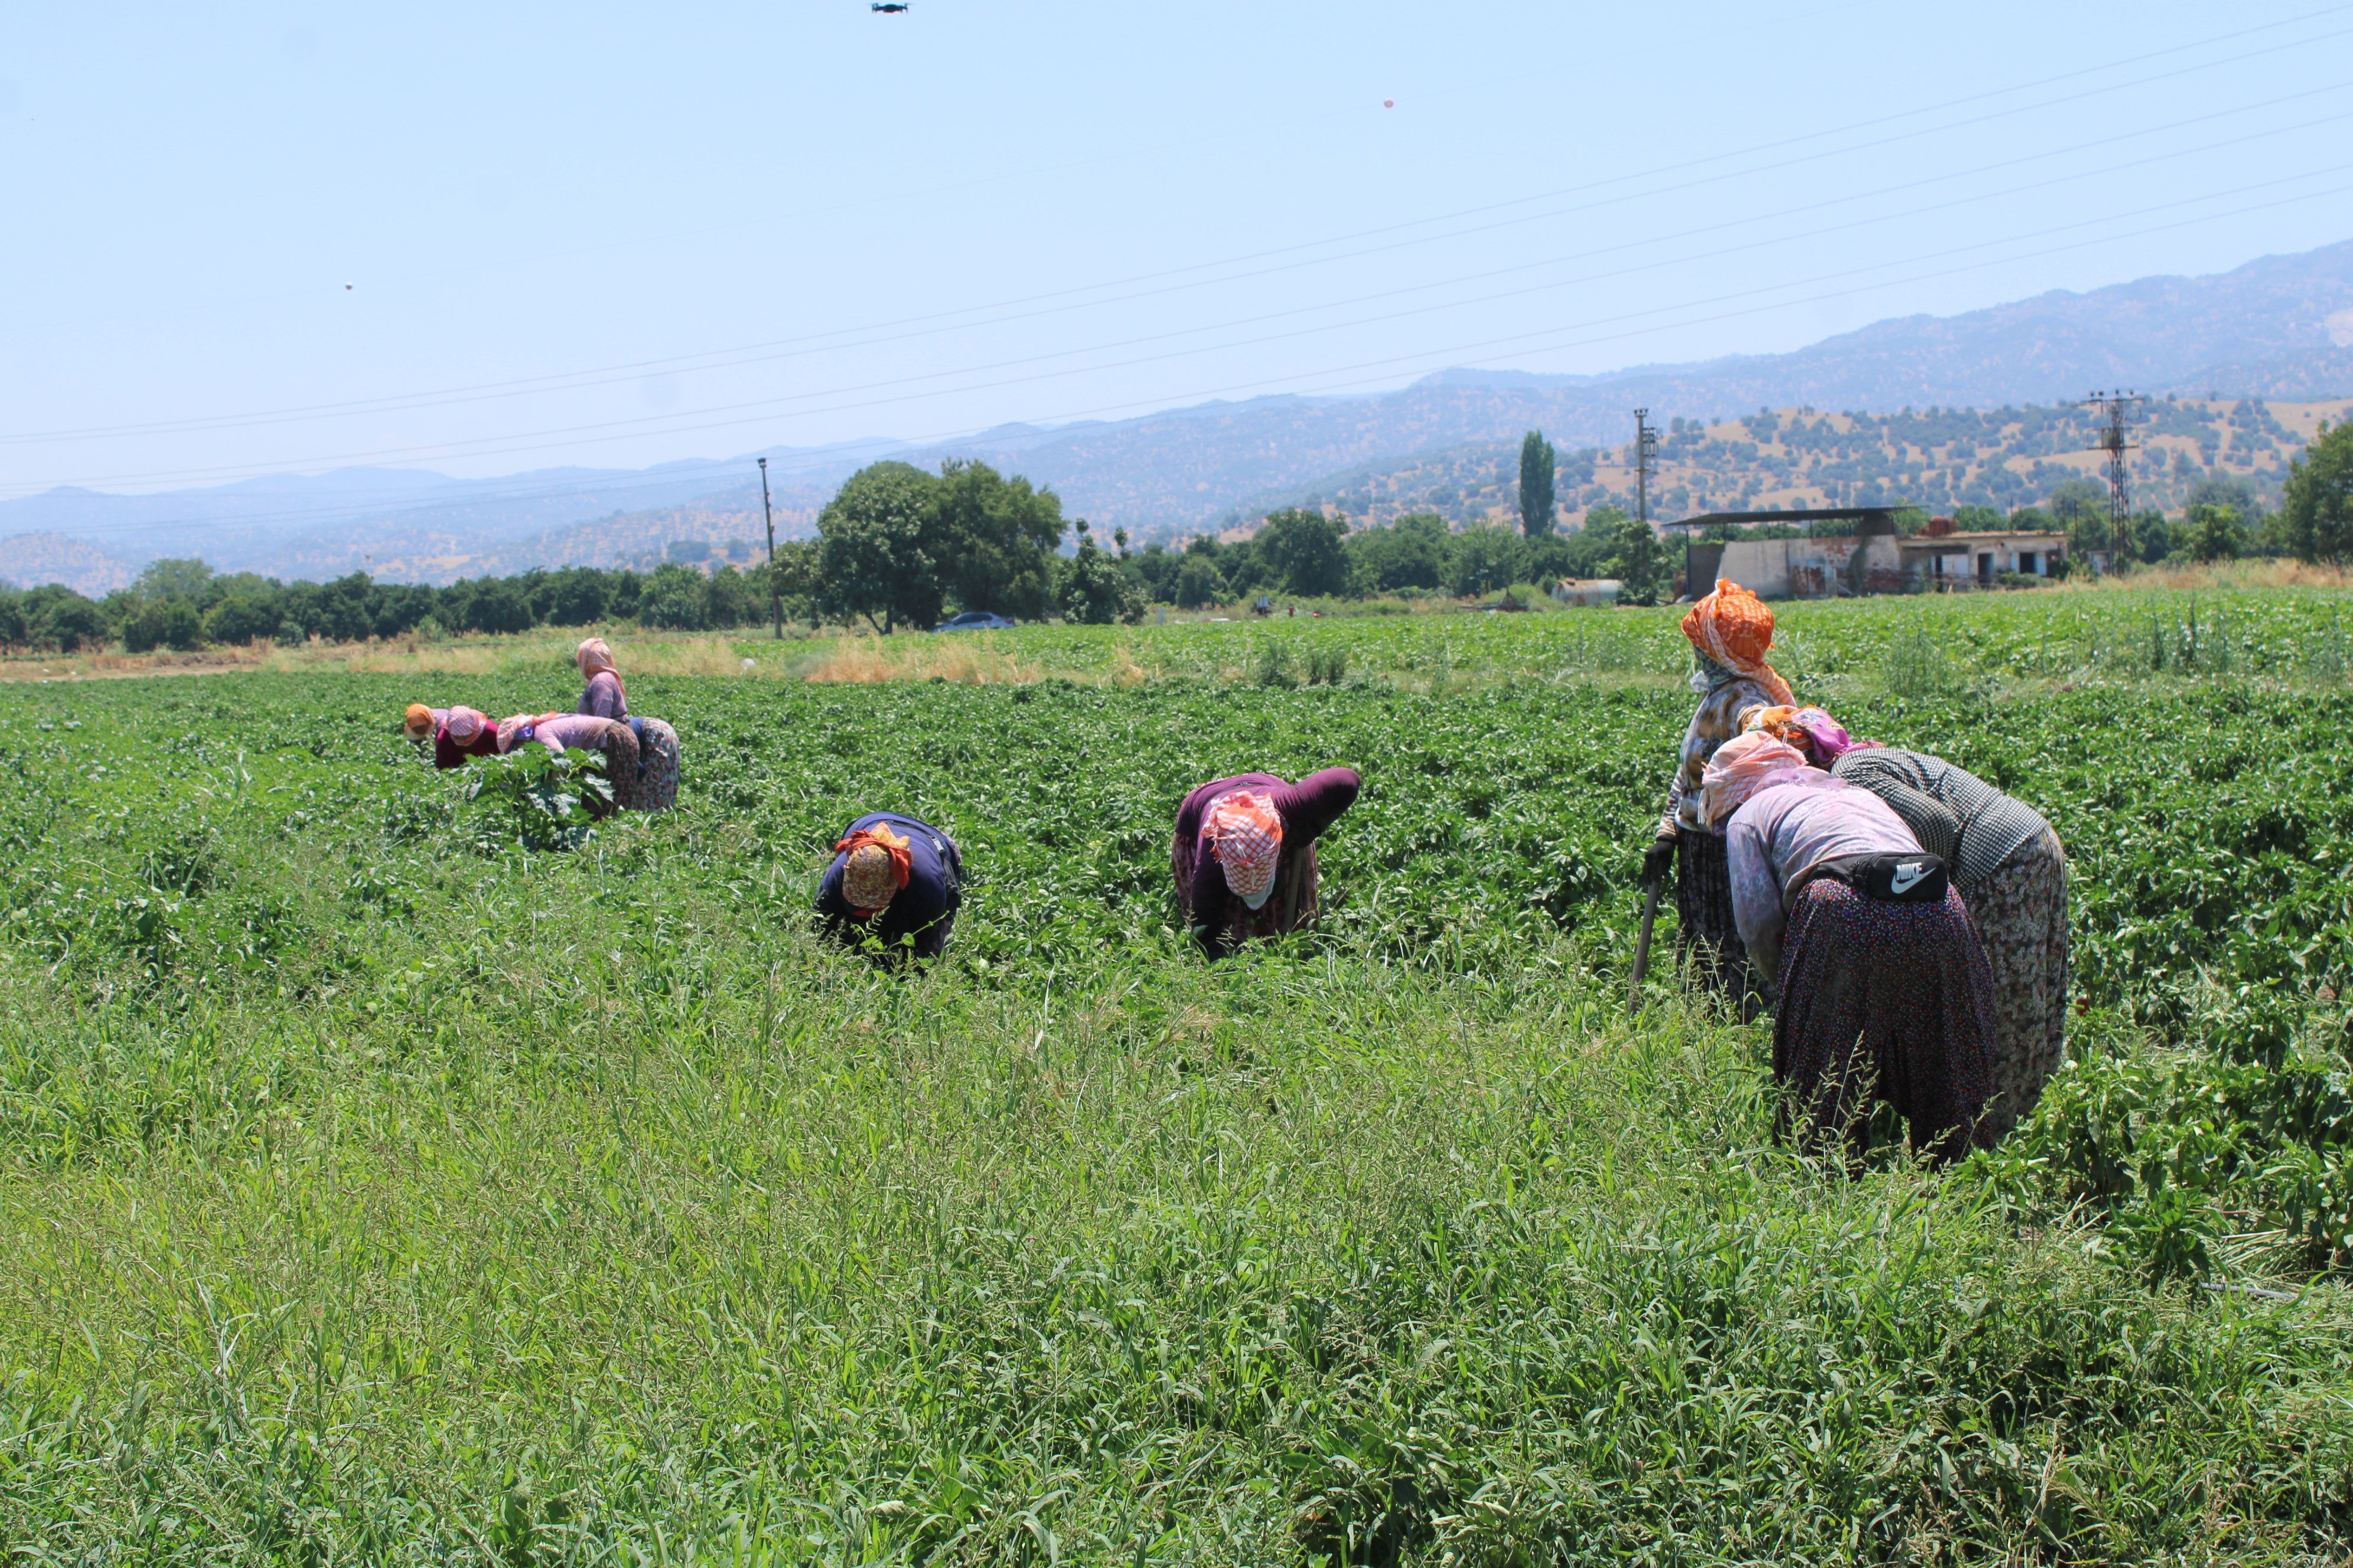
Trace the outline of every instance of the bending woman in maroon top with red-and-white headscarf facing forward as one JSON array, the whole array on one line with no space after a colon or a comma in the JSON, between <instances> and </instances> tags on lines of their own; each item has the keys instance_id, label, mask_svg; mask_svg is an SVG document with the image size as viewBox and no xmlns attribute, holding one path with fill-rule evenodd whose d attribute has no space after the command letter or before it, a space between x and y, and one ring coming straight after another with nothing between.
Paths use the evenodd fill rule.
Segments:
<instances>
[{"instance_id":1,"label":"bending woman in maroon top with red-and-white headscarf facing forward","mask_svg":"<svg viewBox=\"0 0 2353 1568\"><path fill-rule=\"evenodd\" d=\"M1355 804L1362 783L1355 769L1325 769L1297 785L1238 773L1184 797L1169 872L1212 959L1315 919L1315 839Z\"/></svg>"}]
</instances>

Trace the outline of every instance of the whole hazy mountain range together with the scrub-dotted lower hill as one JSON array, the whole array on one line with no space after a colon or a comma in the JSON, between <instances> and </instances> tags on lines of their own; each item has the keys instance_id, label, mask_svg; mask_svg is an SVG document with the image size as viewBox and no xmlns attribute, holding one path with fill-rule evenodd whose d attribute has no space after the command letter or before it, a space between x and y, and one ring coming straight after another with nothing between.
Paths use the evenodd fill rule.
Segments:
<instances>
[{"instance_id":1,"label":"whole hazy mountain range together with the scrub-dotted lower hill","mask_svg":"<svg viewBox=\"0 0 2353 1568\"><path fill-rule=\"evenodd\" d=\"M1257 397L1118 423L1002 425L927 449L845 442L767 456L784 480L779 536L807 531L833 484L873 456L981 458L1054 487L1073 517L1176 536L1308 496L1372 517L1501 515L1529 428L1565 451L1595 449L1579 458L1591 473L1574 487L1562 475L1565 496L1621 496L1631 480L1614 449L1633 433L1631 409L1649 407L1664 425L1701 425L1685 447L1671 442L1671 463L1682 468L1661 487L1661 515L1897 491L1929 505L1939 496L2005 503L2040 494L2064 470L2099 465L2075 451L2087 435L2080 418L2054 404L2104 386L2179 395L2158 435L2162 470L2155 454L2139 458L2151 501L2188 482L2184 454L2202 473L2207 444L2224 470L2271 482L2278 451L2308 435L2297 409L2353 395L2353 242L2264 256L2217 277L2144 277L1955 317L1885 320L1786 355L1607 376L1457 369L1369 397ZM2226 418L2240 397L2268 404L2245 433ZM1840 414L1807 416L1791 447L1734 423L1748 409ZM1904 411L1918 409L1941 411L1904 425ZM1784 428L1793 428L1786 414ZM162 496L59 489L0 501L0 576L104 590L158 555L202 555L282 578L372 569L442 583L539 564L635 564L673 545L725 557L729 541L760 536L758 508L751 456L494 480L341 470Z\"/></svg>"}]
</instances>

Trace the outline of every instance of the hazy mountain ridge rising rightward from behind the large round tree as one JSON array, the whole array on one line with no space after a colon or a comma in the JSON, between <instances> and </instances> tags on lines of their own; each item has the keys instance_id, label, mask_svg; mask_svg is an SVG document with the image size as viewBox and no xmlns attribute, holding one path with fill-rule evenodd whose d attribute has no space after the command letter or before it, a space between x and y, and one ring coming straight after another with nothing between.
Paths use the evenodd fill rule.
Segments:
<instances>
[{"instance_id":1,"label":"hazy mountain ridge rising rightward from behind the large round tree","mask_svg":"<svg viewBox=\"0 0 2353 1568\"><path fill-rule=\"evenodd\" d=\"M1315 489L1365 463L1518 442L1529 428L1562 447L1617 444L1633 433L1635 407L1661 423L1720 425L1760 407L1995 409L2108 386L2224 400L2346 397L2348 348L2353 242L2264 256L2219 277L2144 277L1955 317L1887 320L1786 355L1609 376L1440 371L1377 397L1261 397L1021 433L1019 442L981 437L939 454L1019 461L1080 515L1167 531Z\"/></svg>"}]
</instances>

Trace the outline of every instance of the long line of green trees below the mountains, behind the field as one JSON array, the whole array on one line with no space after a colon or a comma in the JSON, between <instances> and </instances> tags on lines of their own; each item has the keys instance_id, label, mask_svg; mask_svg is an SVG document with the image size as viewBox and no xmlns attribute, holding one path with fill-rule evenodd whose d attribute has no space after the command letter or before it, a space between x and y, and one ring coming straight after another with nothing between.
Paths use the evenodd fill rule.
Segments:
<instances>
[{"instance_id":1,"label":"long line of green trees below the mountains, behind the field","mask_svg":"<svg viewBox=\"0 0 2353 1568\"><path fill-rule=\"evenodd\" d=\"M951 461L932 475L873 463L842 484L816 520L816 538L776 548L769 567L701 574L666 562L649 574L565 567L447 588L379 583L351 574L332 583L280 583L249 571L216 574L200 559L148 564L132 588L87 599L71 588L0 588L0 644L134 654L202 644L358 642L409 632L525 632L534 625L638 621L664 630L765 625L774 604L798 621L866 621L878 632L929 628L953 611L1014 621L1108 625L1141 621L1148 604L1205 609L1254 595L1487 595L1562 576L1619 578L1621 599L1657 604L1673 583L1673 548L1614 505L1586 515L1577 534L1553 531L1553 449L1529 433L1520 451L1522 527L1449 531L1438 512L1348 529L1341 517L1287 508L1245 541L1193 538L1184 548L1129 550L1113 529L1104 548L1085 520L1066 529L1054 491L986 463ZM2118 559L2233 559L2294 555L2353 564L2353 421L2322 425L2287 477L2278 512L2254 487L2207 477L2179 520L2144 510L2113 536L2108 491L2066 480L2040 508L2007 517L1962 505L1960 529L2059 529L2073 550ZM1066 531L1078 548L1061 552ZM1744 529L1741 536L1798 529Z\"/></svg>"}]
</instances>

